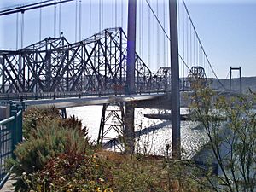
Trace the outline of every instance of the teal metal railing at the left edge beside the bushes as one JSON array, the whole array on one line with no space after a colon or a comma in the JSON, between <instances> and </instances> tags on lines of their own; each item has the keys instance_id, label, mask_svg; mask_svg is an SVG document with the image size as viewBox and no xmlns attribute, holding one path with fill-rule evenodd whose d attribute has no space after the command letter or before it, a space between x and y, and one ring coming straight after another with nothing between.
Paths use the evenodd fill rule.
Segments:
<instances>
[{"instance_id":1,"label":"teal metal railing at the left edge beside the bushes","mask_svg":"<svg viewBox=\"0 0 256 192\"><path fill-rule=\"evenodd\" d=\"M10 117L0 121L0 189L7 181L9 158L15 158L15 146L22 141L22 108L10 104Z\"/></svg>"}]
</instances>

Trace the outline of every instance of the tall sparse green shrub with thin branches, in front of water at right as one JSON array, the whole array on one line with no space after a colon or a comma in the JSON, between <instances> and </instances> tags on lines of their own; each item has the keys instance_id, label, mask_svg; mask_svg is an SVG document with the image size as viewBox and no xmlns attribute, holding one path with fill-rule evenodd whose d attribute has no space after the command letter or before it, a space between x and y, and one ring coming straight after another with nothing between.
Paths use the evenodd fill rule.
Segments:
<instances>
[{"instance_id":1,"label":"tall sparse green shrub with thin branches, in front of water at right","mask_svg":"<svg viewBox=\"0 0 256 192\"><path fill-rule=\"evenodd\" d=\"M193 101L195 115L207 132L211 161L220 169L209 182L217 191L255 191L256 96L216 96L206 88L195 90Z\"/></svg>"}]
</instances>

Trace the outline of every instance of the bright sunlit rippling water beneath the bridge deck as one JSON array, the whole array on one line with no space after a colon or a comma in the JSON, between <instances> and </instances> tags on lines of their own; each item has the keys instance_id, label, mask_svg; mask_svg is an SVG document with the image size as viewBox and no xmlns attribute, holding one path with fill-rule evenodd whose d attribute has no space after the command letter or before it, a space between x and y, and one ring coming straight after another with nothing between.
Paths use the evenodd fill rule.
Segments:
<instances>
[{"instance_id":1,"label":"bright sunlit rippling water beneath the bridge deck","mask_svg":"<svg viewBox=\"0 0 256 192\"><path fill-rule=\"evenodd\" d=\"M168 120L148 119L146 113L159 113L158 109L136 108L135 131L142 131L137 137L136 149L142 154L166 154L166 144L172 144L172 125ZM188 113L186 108L181 113ZM90 141L96 142L102 116L102 106L86 106L79 108L67 108L67 115L75 115L82 120L83 126L89 131ZM114 120L114 119L113 119ZM146 128L150 129L146 129ZM109 132L108 137L116 137L114 131ZM191 121L181 122L181 143L183 157L190 158L201 146L206 143L206 134L199 123ZM171 153L171 151L169 151Z\"/></svg>"}]
</instances>

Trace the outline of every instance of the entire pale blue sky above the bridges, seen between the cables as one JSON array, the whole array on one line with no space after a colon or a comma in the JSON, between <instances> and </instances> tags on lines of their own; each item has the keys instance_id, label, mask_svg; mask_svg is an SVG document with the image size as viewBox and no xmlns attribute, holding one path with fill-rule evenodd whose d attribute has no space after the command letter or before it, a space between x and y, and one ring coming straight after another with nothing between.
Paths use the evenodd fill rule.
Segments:
<instances>
[{"instance_id":1,"label":"entire pale blue sky above the bridges, seen between the cables","mask_svg":"<svg viewBox=\"0 0 256 192\"><path fill-rule=\"evenodd\" d=\"M38 0L1 0L0 10L19 4L34 3ZM106 27L122 26L127 28L127 1L103 0L101 18L99 0L82 0L81 39L103 30ZM118 2L116 7L113 3ZM160 63L168 64L170 50L168 41L159 24L150 13L146 0L137 0L137 52L145 63L155 72ZM143 6L140 3L143 2ZM159 3L159 6L156 3ZM149 0L162 26L169 34L167 2L165 0ZM212 67L219 78L225 79L230 67L241 67L242 76L256 76L256 1L255 0L185 0L196 31L207 53ZM179 4L182 7L182 3ZM122 9L123 8L123 9ZM59 10L56 8L55 34L63 32L69 42L79 40L79 14L77 15L77 30L75 30L75 3L61 4L61 28L59 28ZM185 19L183 24L183 8L178 9L179 16L179 52L189 67L200 61L191 59L193 45L189 37L189 24ZM39 40L39 9L27 11L24 15L24 41L27 46ZM41 39L54 37L54 7L42 9ZM78 12L79 13L79 5ZM121 15L123 13L123 16ZM150 14L148 14L150 13ZM89 19L91 17L91 20ZM16 29L17 15L0 16L0 49L20 49L21 14L18 15L18 31ZM102 25L99 24L101 21ZM149 22L148 22L149 21ZM154 27L154 28L153 28ZM149 30L148 30L149 29ZM183 33L183 31L186 31ZM16 38L18 32L18 41ZM77 32L77 35L75 35ZM195 34L193 33L192 36ZM185 38L183 38L185 37ZM187 37L187 38L186 38ZM193 38L193 37L192 37ZM184 39L184 41L182 40ZM164 43L165 41L165 43ZM185 43L183 43L185 42ZM191 45L191 46L190 46ZM198 46L198 43L196 44ZM185 47L183 49L183 47ZM189 47L189 49L187 49ZM193 46L192 46L193 47ZM202 57L202 56L201 56ZM202 59L205 63L206 61ZM180 75L185 76L186 67L181 64ZM206 67L207 68L207 67ZM209 67L208 67L209 68ZM209 70L209 69L208 69ZM182 73L183 72L183 73ZM208 76L212 76L212 73ZM234 74L234 77L237 73Z\"/></svg>"}]
</instances>

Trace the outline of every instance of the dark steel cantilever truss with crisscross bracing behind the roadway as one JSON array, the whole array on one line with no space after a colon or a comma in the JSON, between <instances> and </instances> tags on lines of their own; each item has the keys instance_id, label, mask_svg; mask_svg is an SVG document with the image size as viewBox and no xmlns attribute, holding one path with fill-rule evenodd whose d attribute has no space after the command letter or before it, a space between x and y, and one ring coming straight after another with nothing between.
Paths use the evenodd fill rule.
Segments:
<instances>
[{"instance_id":1,"label":"dark steel cantilever truss with crisscross bracing behind the roadway","mask_svg":"<svg viewBox=\"0 0 256 192\"><path fill-rule=\"evenodd\" d=\"M17 51L0 51L1 93L98 91L125 92L127 37L108 28L70 44L45 38ZM136 54L136 90L166 88Z\"/></svg>"}]
</instances>

